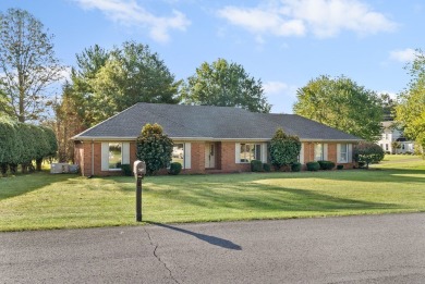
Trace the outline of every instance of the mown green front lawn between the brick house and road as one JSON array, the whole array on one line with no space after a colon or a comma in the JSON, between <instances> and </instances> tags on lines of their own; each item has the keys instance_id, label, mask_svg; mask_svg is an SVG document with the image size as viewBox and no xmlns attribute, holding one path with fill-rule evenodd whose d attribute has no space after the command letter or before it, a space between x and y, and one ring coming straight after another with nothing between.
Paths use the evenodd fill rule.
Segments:
<instances>
[{"instance_id":1,"label":"mown green front lawn between the brick house and road","mask_svg":"<svg viewBox=\"0 0 425 284\"><path fill-rule=\"evenodd\" d=\"M210 222L425 211L425 162L366 170L146 177L146 222ZM136 224L132 177L46 172L0 178L0 231Z\"/></svg>"}]
</instances>

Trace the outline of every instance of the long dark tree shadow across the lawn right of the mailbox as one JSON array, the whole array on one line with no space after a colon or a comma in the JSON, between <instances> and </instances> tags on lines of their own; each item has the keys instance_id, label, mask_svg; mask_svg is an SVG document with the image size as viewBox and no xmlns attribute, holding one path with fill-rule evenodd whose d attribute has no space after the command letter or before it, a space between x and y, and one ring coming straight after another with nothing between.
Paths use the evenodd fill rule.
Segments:
<instances>
[{"instance_id":1,"label":"long dark tree shadow across the lawn right of the mailbox","mask_svg":"<svg viewBox=\"0 0 425 284\"><path fill-rule=\"evenodd\" d=\"M270 185L246 184L243 190L234 186L227 189L214 189L199 185L197 188L178 190L167 198L182 206L192 205L206 209L234 209L252 211L287 212L339 212L404 209L397 203L374 202L353 198L342 198L309 189L278 187Z\"/></svg>"}]
</instances>

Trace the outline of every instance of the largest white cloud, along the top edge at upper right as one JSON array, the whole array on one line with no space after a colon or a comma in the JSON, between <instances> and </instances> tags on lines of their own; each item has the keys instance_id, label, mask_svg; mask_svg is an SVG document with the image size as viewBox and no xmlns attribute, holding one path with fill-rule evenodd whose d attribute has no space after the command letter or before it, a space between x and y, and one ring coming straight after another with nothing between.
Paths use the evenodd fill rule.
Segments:
<instances>
[{"instance_id":1,"label":"largest white cloud, along the top edge at upper right","mask_svg":"<svg viewBox=\"0 0 425 284\"><path fill-rule=\"evenodd\" d=\"M264 3L264 2L263 2ZM397 24L360 0L280 0L256 8L224 7L218 15L253 34L274 36L337 36L390 32Z\"/></svg>"}]
</instances>

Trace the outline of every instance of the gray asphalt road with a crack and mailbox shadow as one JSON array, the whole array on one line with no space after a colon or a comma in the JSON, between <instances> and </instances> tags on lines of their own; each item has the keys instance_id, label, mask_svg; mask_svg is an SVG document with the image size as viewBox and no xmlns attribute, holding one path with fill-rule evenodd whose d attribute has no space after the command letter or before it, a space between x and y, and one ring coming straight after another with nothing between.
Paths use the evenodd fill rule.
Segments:
<instances>
[{"instance_id":1,"label":"gray asphalt road with a crack and mailbox shadow","mask_svg":"<svg viewBox=\"0 0 425 284\"><path fill-rule=\"evenodd\" d=\"M0 233L1 283L425 283L425 214Z\"/></svg>"}]
</instances>

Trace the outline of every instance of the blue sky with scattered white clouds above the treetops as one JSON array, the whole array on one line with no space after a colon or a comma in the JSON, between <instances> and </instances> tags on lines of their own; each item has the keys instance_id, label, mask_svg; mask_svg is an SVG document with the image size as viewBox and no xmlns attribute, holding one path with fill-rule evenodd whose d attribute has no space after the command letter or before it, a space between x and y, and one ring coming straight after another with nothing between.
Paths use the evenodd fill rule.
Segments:
<instances>
[{"instance_id":1,"label":"blue sky with scattered white clouds above the treetops","mask_svg":"<svg viewBox=\"0 0 425 284\"><path fill-rule=\"evenodd\" d=\"M409 76L403 66L425 47L422 0L1 0L54 34L56 53L75 53L125 40L148 45L175 78L218 58L262 79L276 113L292 113L296 89L319 75L344 75L393 96Z\"/></svg>"}]
</instances>

